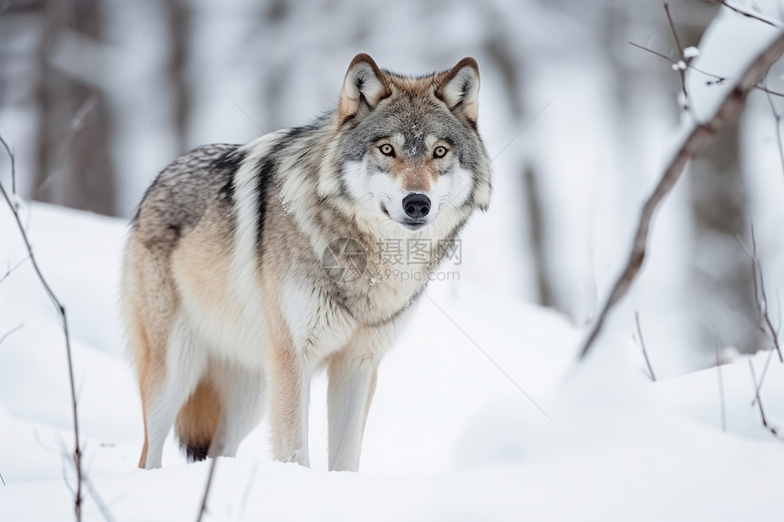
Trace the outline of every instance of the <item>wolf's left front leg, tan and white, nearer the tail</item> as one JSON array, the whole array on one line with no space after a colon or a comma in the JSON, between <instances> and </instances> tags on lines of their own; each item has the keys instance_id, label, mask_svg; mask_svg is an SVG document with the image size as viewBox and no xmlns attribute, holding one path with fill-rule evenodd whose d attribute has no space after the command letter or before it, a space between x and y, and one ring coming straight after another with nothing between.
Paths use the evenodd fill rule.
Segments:
<instances>
[{"instance_id":1,"label":"wolf's left front leg, tan and white, nearer the tail","mask_svg":"<svg viewBox=\"0 0 784 522\"><path fill-rule=\"evenodd\" d=\"M311 375L294 350L276 350L270 374L270 423L273 455L283 462L310 466L307 415Z\"/></svg>"}]
</instances>

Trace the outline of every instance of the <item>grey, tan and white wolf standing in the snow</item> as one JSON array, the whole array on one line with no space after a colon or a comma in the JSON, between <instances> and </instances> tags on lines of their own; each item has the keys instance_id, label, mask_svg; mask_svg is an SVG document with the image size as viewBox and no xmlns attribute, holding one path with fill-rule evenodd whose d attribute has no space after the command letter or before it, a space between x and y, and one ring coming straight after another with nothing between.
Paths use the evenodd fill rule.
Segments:
<instances>
[{"instance_id":1,"label":"grey, tan and white wolf standing in the snow","mask_svg":"<svg viewBox=\"0 0 784 522\"><path fill-rule=\"evenodd\" d=\"M328 377L330 470L356 471L377 370L475 210L491 168L480 74L405 77L366 54L335 110L177 159L147 190L124 253L139 379L139 467L172 425L191 460L233 456L263 415L273 455L309 466L312 375ZM428 240L416 277L385 278L384 241Z\"/></svg>"}]
</instances>

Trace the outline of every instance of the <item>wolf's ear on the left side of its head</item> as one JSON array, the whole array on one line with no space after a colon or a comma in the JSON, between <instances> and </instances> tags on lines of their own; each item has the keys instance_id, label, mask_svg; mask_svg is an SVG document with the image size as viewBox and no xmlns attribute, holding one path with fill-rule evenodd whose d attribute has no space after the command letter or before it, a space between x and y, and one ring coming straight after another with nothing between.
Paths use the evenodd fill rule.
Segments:
<instances>
[{"instance_id":1,"label":"wolf's ear on the left side of its head","mask_svg":"<svg viewBox=\"0 0 784 522\"><path fill-rule=\"evenodd\" d=\"M354 56L348 66L340 106L337 109L340 125L348 118L369 112L378 102L392 94L387 79L373 58L365 53Z\"/></svg>"}]
</instances>

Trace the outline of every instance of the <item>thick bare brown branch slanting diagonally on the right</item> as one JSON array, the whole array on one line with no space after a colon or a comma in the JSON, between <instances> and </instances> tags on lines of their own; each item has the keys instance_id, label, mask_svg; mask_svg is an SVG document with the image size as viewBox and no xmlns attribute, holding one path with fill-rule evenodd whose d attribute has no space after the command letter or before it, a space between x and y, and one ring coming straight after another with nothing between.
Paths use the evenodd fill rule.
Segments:
<instances>
[{"instance_id":1,"label":"thick bare brown branch slanting diagonally on the right","mask_svg":"<svg viewBox=\"0 0 784 522\"><path fill-rule=\"evenodd\" d=\"M626 261L624 270L613 285L613 289L604 303L602 312L599 314L598 319L593 325L593 329L583 343L583 348L580 351L580 358L590 352L593 343L602 332L604 321L607 314L613 309L615 304L621 301L626 292L629 291L632 283L637 277L640 268L645 260L645 249L648 241L648 234L651 228L651 222L654 219L655 210L658 209L662 200L669 194L670 190L676 185L678 179L686 168L686 163L707 146L708 142L718 133L719 130L727 125L728 121L735 119L743 107L748 95L748 91L754 88L769 67L779 59L779 56L784 53L784 33L779 34L767 48L762 50L756 58L747 67L746 71L740 77L738 84L731 89L724 100L717 108L716 113L708 119L705 123L693 124L692 131L688 134L686 139L678 148L676 154L667 165L662 178L654 189L654 192L645 201L642 215L637 224L637 230L634 233L634 242L632 251L629 254L629 259Z\"/></svg>"}]
</instances>

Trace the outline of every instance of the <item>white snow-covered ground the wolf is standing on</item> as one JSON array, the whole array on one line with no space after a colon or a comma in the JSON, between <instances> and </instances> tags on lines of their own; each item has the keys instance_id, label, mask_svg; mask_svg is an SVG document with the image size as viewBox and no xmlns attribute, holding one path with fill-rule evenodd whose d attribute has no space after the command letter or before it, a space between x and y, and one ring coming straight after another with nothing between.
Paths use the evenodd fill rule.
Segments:
<instances>
[{"instance_id":1,"label":"white snow-covered ground the wolf is standing on","mask_svg":"<svg viewBox=\"0 0 784 522\"><path fill-rule=\"evenodd\" d=\"M186 465L170 440L162 469L136 468L139 399L117 310L126 223L42 204L24 216L70 319L96 493L85 519L103 518L96 496L117 520L195 519L209 463ZM2 275L25 257L6 209L0 238ZM0 282L0 335L20 324L0 343L0 520L68 520L63 339L29 262ZM382 363L361 472L325 471L319 376L314 468L273 462L261 425L238 458L219 460L205 519L781 519L784 442L752 405L749 360L721 368L723 430L716 368L652 384L631 340L603 343L576 366L581 339L553 312L470 281L435 283ZM750 359L758 378L767 358ZM776 358L761 397L769 423L784 428L784 365Z\"/></svg>"}]
</instances>

